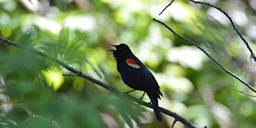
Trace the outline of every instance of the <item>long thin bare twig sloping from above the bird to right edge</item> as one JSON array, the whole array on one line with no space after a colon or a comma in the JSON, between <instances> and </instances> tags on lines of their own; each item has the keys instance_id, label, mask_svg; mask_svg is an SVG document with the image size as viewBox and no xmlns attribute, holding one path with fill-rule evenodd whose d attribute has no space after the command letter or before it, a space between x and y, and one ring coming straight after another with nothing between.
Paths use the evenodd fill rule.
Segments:
<instances>
[{"instance_id":1,"label":"long thin bare twig sloping from above the bird to right edge","mask_svg":"<svg viewBox=\"0 0 256 128\"><path fill-rule=\"evenodd\" d=\"M236 79L238 79L240 82L242 82L244 85L246 85L247 87L249 87L252 91L256 92L256 90L250 86L248 83L246 83L244 80L242 80L241 78L239 78L238 76L236 76L235 74L233 74L231 71L229 71L228 69L226 69L223 65L221 65L216 59L214 59L212 56L210 56L203 48L201 48L199 45L197 45L195 42L185 38L184 36L176 33L174 30L172 30L169 26L167 26L164 22L161 22L155 18L153 18L154 21L157 21L159 23L161 23L162 25L164 25L166 28L168 28L172 33L174 33L176 36L182 38L183 40L193 44L194 46L196 46L197 48L199 48L202 52L204 52L204 54L206 54L212 61L214 61L219 67L221 67L225 72L227 72L228 74L232 75L233 77L235 77Z\"/></svg>"}]
</instances>

